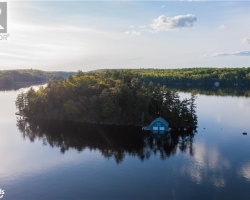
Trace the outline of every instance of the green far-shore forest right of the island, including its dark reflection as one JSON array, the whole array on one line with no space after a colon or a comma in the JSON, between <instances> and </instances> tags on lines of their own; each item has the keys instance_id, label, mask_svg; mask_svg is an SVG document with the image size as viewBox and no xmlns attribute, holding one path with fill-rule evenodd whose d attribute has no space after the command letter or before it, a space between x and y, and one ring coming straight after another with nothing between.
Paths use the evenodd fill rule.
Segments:
<instances>
[{"instance_id":1,"label":"green far-shore forest right of the island, including its dark reflection","mask_svg":"<svg viewBox=\"0 0 250 200\"><path fill-rule=\"evenodd\" d=\"M120 69L121 70L121 69ZM118 70L118 71L120 71ZM114 69L91 71L105 74ZM116 71L116 70L115 70ZM250 96L250 68L125 69L140 82L169 89L218 96Z\"/></svg>"}]
</instances>

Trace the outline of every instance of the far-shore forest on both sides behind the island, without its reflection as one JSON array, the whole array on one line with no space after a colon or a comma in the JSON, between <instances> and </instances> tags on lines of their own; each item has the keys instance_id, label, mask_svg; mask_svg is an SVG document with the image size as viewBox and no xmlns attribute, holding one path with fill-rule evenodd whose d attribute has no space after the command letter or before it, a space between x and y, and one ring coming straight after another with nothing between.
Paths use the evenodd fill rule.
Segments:
<instances>
[{"instance_id":1,"label":"far-shore forest on both sides behind the island, without its reflection","mask_svg":"<svg viewBox=\"0 0 250 200\"><path fill-rule=\"evenodd\" d=\"M140 82L168 87L199 86L207 88L219 83L222 88L250 87L250 68L182 68L182 69L105 69L88 72L89 75L107 76L110 73L129 72ZM67 78L75 72L46 72L41 70L2 70L0 87L19 82L48 81Z\"/></svg>"}]
</instances>

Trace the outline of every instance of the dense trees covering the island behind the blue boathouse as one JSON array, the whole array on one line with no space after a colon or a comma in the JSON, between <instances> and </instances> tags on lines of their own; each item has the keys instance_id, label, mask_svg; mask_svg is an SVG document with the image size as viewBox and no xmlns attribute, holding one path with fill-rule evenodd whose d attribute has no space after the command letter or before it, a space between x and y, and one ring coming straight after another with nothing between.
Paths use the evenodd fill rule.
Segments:
<instances>
[{"instance_id":1,"label":"dense trees covering the island behind the blue boathouse","mask_svg":"<svg viewBox=\"0 0 250 200\"><path fill-rule=\"evenodd\" d=\"M16 100L26 117L91 123L148 125L162 116L171 127L194 127L195 95L180 100L165 85L145 84L130 70L79 71L66 80L50 81Z\"/></svg>"}]
</instances>

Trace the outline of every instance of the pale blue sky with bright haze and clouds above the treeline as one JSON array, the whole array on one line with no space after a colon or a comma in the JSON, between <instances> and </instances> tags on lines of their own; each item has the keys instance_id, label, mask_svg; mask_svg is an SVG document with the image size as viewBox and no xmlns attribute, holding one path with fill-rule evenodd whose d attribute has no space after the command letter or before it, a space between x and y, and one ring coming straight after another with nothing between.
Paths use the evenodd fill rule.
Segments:
<instances>
[{"instance_id":1,"label":"pale blue sky with bright haze and clouds above the treeline","mask_svg":"<svg viewBox=\"0 0 250 200\"><path fill-rule=\"evenodd\" d=\"M7 1L0 70L250 67L248 1Z\"/></svg>"}]
</instances>

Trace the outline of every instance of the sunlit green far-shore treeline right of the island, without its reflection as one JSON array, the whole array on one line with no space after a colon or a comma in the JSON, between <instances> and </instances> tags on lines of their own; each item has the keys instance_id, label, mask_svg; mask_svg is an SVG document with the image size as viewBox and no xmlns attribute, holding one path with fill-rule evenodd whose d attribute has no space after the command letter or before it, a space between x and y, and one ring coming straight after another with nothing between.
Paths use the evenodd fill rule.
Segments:
<instances>
[{"instance_id":1,"label":"sunlit green far-shore treeline right of the island, without its reflection","mask_svg":"<svg viewBox=\"0 0 250 200\"><path fill-rule=\"evenodd\" d=\"M105 73L104 73L105 71ZM182 68L182 69L118 69L96 70L91 74L118 73L129 71L139 81L168 86L250 87L250 68ZM218 84L217 83L217 84Z\"/></svg>"}]
</instances>

